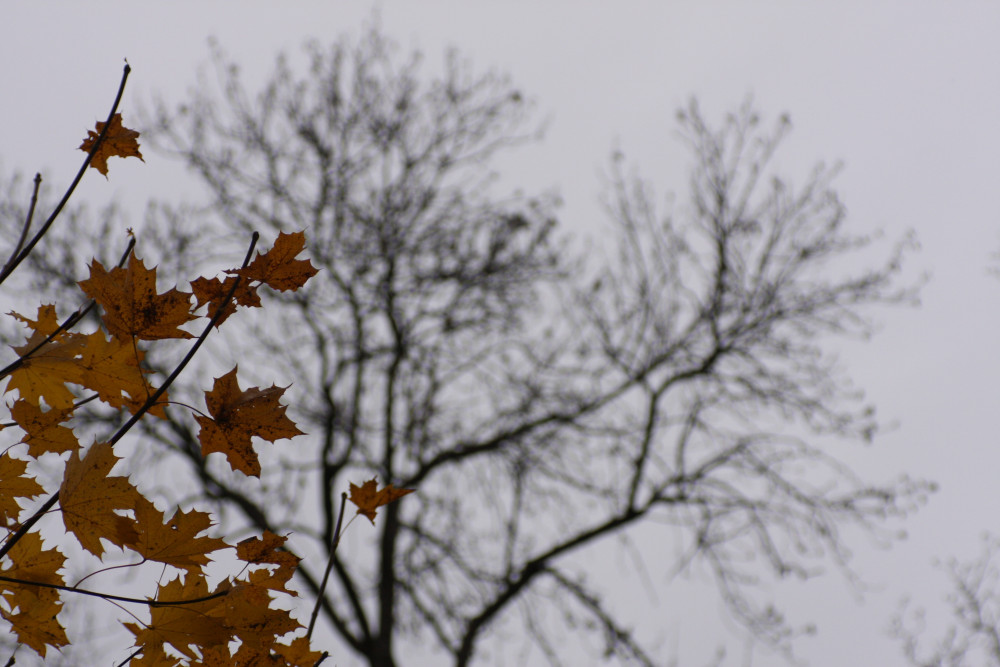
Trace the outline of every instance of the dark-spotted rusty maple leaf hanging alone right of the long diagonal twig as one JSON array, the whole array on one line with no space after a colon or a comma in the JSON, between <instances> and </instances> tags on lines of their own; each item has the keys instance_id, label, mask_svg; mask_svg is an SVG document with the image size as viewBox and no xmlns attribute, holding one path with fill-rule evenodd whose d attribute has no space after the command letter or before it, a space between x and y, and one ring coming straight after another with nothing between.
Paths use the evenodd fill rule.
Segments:
<instances>
[{"instance_id":1,"label":"dark-spotted rusty maple leaf hanging alone right of the long diagonal twig","mask_svg":"<svg viewBox=\"0 0 1000 667\"><path fill-rule=\"evenodd\" d=\"M195 416L201 425L198 440L203 456L222 452L233 470L260 477L260 461L251 438L257 436L274 442L302 435L302 431L285 416L287 406L278 402L287 387L272 385L268 389L251 387L241 391L236 370L233 368L216 378L212 391L205 392L212 418Z\"/></svg>"}]
</instances>

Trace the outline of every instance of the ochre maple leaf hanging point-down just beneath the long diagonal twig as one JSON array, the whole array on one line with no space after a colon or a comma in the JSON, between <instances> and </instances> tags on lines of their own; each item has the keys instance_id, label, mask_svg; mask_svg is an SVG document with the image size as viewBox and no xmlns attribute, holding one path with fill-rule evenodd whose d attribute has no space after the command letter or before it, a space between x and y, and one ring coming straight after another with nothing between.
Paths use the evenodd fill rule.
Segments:
<instances>
[{"instance_id":1,"label":"ochre maple leaf hanging point-down just beneath the long diagonal twig","mask_svg":"<svg viewBox=\"0 0 1000 667\"><path fill-rule=\"evenodd\" d=\"M123 548L139 538L135 522L115 514L115 510L134 509L142 498L128 478L109 476L117 462L111 445L95 442L83 458L79 452L70 455L59 488L66 530L98 558L104 553L101 538Z\"/></svg>"}]
</instances>

